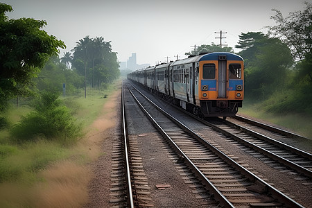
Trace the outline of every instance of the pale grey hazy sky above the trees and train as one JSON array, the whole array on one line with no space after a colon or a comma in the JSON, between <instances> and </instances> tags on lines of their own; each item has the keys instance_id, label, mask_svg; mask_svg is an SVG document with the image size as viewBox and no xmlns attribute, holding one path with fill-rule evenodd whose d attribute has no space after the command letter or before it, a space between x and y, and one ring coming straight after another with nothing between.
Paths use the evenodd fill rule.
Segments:
<instances>
[{"instance_id":1,"label":"pale grey hazy sky above the trees and train","mask_svg":"<svg viewBox=\"0 0 312 208\"><path fill-rule=\"evenodd\" d=\"M44 28L67 45L63 53L86 35L112 41L119 61L137 53L137 63L165 62L166 57L185 58L193 45L223 44L234 48L241 33L266 33L275 25L272 8L284 16L303 10L311 0L0 0L10 4L8 17L32 17L47 21ZM237 49L234 49L237 51Z\"/></svg>"}]
</instances>

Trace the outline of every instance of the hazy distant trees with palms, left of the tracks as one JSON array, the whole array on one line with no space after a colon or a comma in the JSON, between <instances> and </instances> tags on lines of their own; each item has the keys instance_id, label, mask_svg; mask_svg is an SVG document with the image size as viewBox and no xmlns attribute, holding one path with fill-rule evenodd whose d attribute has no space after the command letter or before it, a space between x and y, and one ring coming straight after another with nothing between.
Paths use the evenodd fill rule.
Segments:
<instances>
[{"instance_id":1,"label":"hazy distant trees with palms, left of the tracks","mask_svg":"<svg viewBox=\"0 0 312 208\"><path fill-rule=\"evenodd\" d=\"M85 87L85 78L86 87L104 89L119 77L119 62L110 42L86 36L76 44L62 58L53 56L46 62L34 80L37 89L56 88L62 92L65 85L67 95L76 95Z\"/></svg>"}]
</instances>

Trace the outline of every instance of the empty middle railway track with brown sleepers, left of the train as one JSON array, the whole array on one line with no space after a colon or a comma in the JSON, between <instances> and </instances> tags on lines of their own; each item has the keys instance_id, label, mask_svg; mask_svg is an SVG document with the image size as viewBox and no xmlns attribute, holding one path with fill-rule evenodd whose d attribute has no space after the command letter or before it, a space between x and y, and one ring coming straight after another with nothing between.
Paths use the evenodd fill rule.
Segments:
<instances>
[{"instance_id":1,"label":"empty middle railway track with brown sleepers, left of the train","mask_svg":"<svg viewBox=\"0 0 312 208\"><path fill-rule=\"evenodd\" d=\"M132 94L138 97L137 103L150 121L168 138L180 160L192 169L196 178L205 184L223 207L302 207L172 116L158 107L152 107L151 101L147 101L143 95L135 91Z\"/></svg>"}]
</instances>

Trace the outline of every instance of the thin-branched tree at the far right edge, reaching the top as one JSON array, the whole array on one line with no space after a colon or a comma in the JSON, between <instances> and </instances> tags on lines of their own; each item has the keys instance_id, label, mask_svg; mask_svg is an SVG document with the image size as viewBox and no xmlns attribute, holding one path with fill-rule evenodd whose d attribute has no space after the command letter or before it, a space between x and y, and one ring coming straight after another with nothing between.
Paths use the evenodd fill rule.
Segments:
<instances>
[{"instance_id":1,"label":"thin-branched tree at the far right edge, reaching the top","mask_svg":"<svg viewBox=\"0 0 312 208\"><path fill-rule=\"evenodd\" d=\"M279 109L312 114L312 3L305 2L302 11L290 12L283 17L279 10L273 17L276 26L269 26L269 34L281 38L297 60L295 76L288 92L290 96Z\"/></svg>"}]
</instances>

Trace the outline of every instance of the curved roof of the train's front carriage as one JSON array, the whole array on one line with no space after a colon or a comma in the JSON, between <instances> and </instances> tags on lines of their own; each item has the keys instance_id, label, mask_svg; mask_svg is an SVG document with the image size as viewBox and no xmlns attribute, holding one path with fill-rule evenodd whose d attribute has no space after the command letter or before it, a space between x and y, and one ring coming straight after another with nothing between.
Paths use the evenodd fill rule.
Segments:
<instances>
[{"instance_id":1,"label":"curved roof of the train's front carriage","mask_svg":"<svg viewBox=\"0 0 312 208\"><path fill-rule=\"evenodd\" d=\"M204 55L196 55L191 58L186 58L183 60L177 60L171 63L170 66L180 65L180 64L189 64L192 62L199 62L203 60L218 60L219 55L226 55L227 60L243 60L241 56L236 55L234 53L227 53L227 52L214 52L214 53L206 53Z\"/></svg>"}]
</instances>

